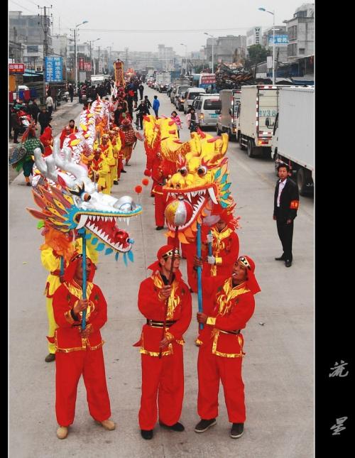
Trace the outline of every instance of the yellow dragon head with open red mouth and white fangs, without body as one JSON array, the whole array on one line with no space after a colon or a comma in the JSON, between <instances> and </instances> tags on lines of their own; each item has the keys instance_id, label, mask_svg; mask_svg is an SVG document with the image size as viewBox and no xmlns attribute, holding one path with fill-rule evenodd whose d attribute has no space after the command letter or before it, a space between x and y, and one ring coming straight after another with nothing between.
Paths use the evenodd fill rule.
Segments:
<instances>
[{"instance_id":1,"label":"yellow dragon head with open red mouth and white fangs, without body","mask_svg":"<svg viewBox=\"0 0 355 458\"><path fill-rule=\"evenodd\" d=\"M197 223L224 209L234 209L228 181L228 135L213 137L199 131L191 134L191 140L180 144L178 171L163 187L167 206L168 236L173 236L173 215L178 207L185 205L186 222L179 227L179 239L187 243L195 239ZM217 218L218 219L218 218Z\"/></svg>"}]
</instances>

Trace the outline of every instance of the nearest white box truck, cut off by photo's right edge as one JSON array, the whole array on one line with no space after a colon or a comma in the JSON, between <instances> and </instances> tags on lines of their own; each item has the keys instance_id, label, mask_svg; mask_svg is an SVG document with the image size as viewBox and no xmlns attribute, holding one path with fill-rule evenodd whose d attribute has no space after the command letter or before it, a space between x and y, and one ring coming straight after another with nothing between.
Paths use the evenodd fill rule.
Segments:
<instances>
[{"instance_id":1,"label":"nearest white box truck, cut off by photo's right edge","mask_svg":"<svg viewBox=\"0 0 355 458\"><path fill-rule=\"evenodd\" d=\"M297 175L300 195L314 189L315 88L280 87L278 114L273 129L272 154L275 167L286 163Z\"/></svg>"}]
</instances>

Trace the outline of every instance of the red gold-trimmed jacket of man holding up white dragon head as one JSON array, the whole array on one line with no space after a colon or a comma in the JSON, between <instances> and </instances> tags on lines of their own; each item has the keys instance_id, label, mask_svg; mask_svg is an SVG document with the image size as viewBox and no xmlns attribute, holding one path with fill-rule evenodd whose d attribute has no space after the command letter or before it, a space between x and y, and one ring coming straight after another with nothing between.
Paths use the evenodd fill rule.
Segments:
<instances>
[{"instance_id":1,"label":"red gold-trimmed jacket of man holding up white dragon head","mask_svg":"<svg viewBox=\"0 0 355 458\"><path fill-rule=\"evenodd\" d=\"M107 303L102 290L94 283L87 282L87 324L92 325L93 332L87 339L81 337L79 327L82 320L75 321L70 310L82 298L82 289L77 283L63 283L53 296L53 312L58 329L55 329L55 351L68 353L70 351L95 350L102 347L100 329L107 322Z\"/></svg>"}]
</instances>

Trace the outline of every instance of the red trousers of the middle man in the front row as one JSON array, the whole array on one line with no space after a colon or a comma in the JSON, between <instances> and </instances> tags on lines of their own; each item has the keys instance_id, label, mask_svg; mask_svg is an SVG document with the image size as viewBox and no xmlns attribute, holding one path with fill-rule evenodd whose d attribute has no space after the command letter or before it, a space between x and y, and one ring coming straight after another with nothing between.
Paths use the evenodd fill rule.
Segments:
<instances>
[{"instance_id":1,"label":"red trousers of the middle man in the front row","mask_svg":"<svg viewBox=\"0 0 355 458\"><path fill-rule=\"evenodd\" d=\"M138 414L141 430L153 430L158 418L165 425L179 421L184 398L184 363L182 345L173 343L173 354L141 355L142 396ZM157 407L158 397L158 407Z\"/></svg>"}]
</instances>

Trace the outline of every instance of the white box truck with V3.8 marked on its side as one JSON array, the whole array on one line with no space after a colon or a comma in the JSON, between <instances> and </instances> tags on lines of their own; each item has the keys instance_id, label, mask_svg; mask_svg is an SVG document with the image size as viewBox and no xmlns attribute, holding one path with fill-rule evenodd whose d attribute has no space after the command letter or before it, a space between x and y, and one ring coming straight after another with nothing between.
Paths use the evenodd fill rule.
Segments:
<instances>
[{"instance_id":1,"label":"white box truck with V3.8 marked on its side","mask_svg":"<svg viewBox=\"0 0 355 458\"><path fill-rule=\"evenodd\" d=\"M278 87L259 84L241 87L239 146L249 158L257 153L270 157L273 126L278 112Z\"/></svg>"}]
</instances>

